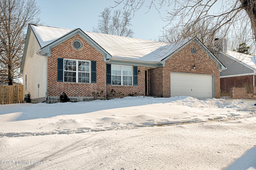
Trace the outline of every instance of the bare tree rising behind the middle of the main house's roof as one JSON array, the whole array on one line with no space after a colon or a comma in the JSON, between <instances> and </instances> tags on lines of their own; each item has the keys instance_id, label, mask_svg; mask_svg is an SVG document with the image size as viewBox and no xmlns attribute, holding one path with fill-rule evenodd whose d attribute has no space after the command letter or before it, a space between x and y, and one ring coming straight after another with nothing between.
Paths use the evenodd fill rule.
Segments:
<instances>
[{"instance_id":1,"label":"bare tree rising behind the middle of the main house's roof","mask_svg":"<svg viewBox=\"0 0 256 170\"><path fill-rule=\"evenodd\" d=\"M93 32L132 37L134 32L129 28L132 26L130 13L114 10L114 14L112 15L111 12L110 8L105 8L100 13L98 27L93 28Z\"/></svg>"}]
</instances>

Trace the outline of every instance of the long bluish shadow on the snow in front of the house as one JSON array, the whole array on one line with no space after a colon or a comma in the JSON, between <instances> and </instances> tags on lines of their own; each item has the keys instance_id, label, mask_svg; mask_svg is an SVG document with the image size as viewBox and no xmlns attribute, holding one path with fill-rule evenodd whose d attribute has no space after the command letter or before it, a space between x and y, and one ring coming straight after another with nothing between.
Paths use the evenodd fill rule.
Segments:
<instances>
[{"instance_id":1,"label":"long bluish shadow on the snow in front of the house","mask_svg":"<svg viewBox=\"0 0 256 170\"><path fill-rule=\"evenodd\" d=\"M184 96L186 98L187 96ZM182 97L183 98L183 97ZM181 99L180 97L178 99ZM31 119L44 119L59 115L76 115L104 111L108 109L135 107L154 103L168 103L175 100L172 98L154 97L125 97L124 99L96 100L87 102L67 103L37 103L37 104L12 104L12 106L0 106L0 115L19 113L12 121L24 121ZM2 110L2 111L1 111Z\"/></svg>"}]
</instances>

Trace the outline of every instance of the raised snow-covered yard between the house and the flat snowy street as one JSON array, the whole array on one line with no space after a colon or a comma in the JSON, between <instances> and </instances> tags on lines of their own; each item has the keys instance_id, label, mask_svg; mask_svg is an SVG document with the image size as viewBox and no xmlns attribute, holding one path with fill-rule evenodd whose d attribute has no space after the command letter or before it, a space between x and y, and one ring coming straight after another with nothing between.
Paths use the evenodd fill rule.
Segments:
<instances>
[{"instance_id":1,"label":"raised snow-covered yard between the house and the flat snowy street","mask_svg":"<svg viewBox=\"0 0 256 170\"><path fill-rule=\"evenodd\" d=\"M11 107L10 107L11 106ZM242 101L192 97L125 97L109 101L1 105L0 136L74 132L252 117Z\"/></svg>"}]
</instances>

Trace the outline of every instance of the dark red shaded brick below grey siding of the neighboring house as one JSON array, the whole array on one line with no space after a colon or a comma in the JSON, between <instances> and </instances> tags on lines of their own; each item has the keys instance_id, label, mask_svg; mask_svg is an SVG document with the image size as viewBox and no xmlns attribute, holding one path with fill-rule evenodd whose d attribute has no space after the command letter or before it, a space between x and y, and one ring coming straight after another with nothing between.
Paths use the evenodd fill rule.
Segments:
<instances>
[{"instance_id":1,"label":"dark red shaded brick below grey siding of the neighboring house","mask_svg":"<svg viewBox=\"0 0 256 170\"><path fill-rule=\"evenodd\" d=\"M245 83L253 85L254 75L220 78L220 90L228 93L232 87L243 87Z\"/></svg>"}]
</instances>

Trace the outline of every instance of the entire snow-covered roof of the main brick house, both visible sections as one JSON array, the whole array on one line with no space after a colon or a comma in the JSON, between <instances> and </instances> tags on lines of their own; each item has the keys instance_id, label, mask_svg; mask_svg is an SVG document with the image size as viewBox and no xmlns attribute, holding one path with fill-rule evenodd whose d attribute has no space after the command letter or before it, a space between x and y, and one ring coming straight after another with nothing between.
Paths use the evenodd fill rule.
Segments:
<instances>
[{"instance_id":1,"label":"entire snow-covered roof of the main brick house, both visible sections","mask_svg":"<svg viewBox=\"0 0 256 170\"><path fill-rule=\"evenodd\" d=\"M30 24L30 26L41 47L45 47L73 31L72 29L34 24ZM84 33L106 50L112 58L149 62L160 62L189 41L189 39L185 39L170 44L95 32Z\"/></svg>"}]
</instances>

